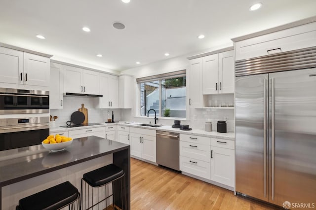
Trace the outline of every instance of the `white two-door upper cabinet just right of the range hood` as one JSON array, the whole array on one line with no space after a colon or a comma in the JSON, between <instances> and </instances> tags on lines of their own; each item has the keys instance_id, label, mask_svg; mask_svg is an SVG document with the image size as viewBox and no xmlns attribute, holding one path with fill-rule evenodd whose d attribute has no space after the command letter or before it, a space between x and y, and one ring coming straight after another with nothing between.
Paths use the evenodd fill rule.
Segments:
<instances>
[{"instance_id":1,"label":"white two-door upper cabinet just right of the range hood","mask_svg":"<svg viewBox=\"0 0 316 210\"><path fill-rule=\"evenodd\" d=\"M99 108L118 108L118 76L100 73Z\"/></svg>"}]
</instances>

